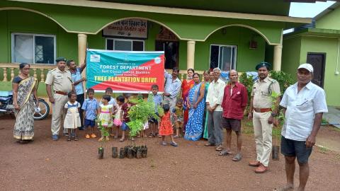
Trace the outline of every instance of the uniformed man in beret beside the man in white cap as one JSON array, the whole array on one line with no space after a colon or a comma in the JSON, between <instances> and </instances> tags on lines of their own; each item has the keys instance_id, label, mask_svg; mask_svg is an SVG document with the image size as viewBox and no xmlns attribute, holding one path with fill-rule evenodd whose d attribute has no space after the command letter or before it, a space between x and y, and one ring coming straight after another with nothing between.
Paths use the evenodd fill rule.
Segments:
<instances>
[{"instance_id":1,"label":"uniformed man in beret beside the man in white cap","mask_svg":"<svg viewBox=\"0 0 340 191\"><path fill-rule=\"evenodd\" d=\"M273 104L280 103L280 98L273 103L271 93L280 93L278 81L268 77L270 64L261 62L256 66L259 79L254 82L251 91L249 120L253 118L254 137L256 143L256 161L249 162L249 166L257 167L255 173L265 173L268 170L269 157L271 156L273 120L276 110Z\"/></svg>"}]
</instances>

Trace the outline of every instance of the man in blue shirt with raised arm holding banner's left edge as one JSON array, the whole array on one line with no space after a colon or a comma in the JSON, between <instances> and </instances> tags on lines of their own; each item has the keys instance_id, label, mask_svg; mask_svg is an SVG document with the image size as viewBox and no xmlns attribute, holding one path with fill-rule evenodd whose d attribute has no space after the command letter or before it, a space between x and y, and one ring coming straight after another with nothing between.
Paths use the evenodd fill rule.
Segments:
<instances>
[{"instance_id":1,"label":"man in blue shirt with raised arm holding banner's left edge","mask_svg":"<svg viewBox=\"0 0 340 191\"><path fill-rule=\"evenodd\" d=\"M77 102L79 102L80 105L82 106L85 98L83 81L86 81L86 78L81 77L81 72L83 72L86 67L86 60L84 61L83 64L81 64L80 67L77 67L76 62L74 62L73 60L69 60L67 61L67 66L69 66L69 71L71 72L72 80L74 81L74 88L77 93ZM79 127L79 130L84 130L83 110L79 111L79 116L81 119L81 127Z\"/></svg>"}]
</instances>

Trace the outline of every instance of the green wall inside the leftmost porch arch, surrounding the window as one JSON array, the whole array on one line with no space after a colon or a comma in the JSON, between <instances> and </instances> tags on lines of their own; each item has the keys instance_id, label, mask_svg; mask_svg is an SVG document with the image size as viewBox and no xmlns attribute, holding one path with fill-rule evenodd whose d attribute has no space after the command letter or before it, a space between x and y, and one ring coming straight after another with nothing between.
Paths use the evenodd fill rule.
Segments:
<instances>
[{"instance_id":1,"label":"green wall inside the leftmost porch arch, surrounding the window","mask_svg":"<svg viewBox=\"0 0 340 191\"><path fill-rule=\"evenodd\" d=\"M78 59L77 34L66 33L45 16L28 11L0 11L0 24L0 62L11 62L11 33L56 35L56 57Z\"/></svg>"}]
</instances>

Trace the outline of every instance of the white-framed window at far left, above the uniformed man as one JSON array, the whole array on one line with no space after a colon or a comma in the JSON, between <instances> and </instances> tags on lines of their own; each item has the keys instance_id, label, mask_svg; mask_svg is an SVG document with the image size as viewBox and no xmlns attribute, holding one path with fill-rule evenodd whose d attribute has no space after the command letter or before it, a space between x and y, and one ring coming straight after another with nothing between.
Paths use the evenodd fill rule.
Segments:
<instances>
[{"instance_id":1,"label":"white-framed window at far left, above the uniformed man","mask_svg":"<svg viewBox=\"0 0 340 191\"><path fill-rule=\"evenodd\" d=\"M55 64L55 35L12 33L12 62Z\"/></svg>"}]
</instances>

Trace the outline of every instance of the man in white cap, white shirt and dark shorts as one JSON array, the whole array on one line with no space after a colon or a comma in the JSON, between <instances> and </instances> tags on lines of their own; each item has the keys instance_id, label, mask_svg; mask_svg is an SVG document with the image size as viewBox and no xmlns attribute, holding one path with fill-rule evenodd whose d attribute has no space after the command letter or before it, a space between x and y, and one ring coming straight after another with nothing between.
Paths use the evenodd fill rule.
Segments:
<instances>
[{"instance_id":1,"label":"man in white cap, white shirt and dark shorts","mask_svg":"<svg viewBox=\"0 0 340 191\"><path fill-rule=\"evenodd\" d=\"M285 156L287 185L276 190L293 189L295 158L300 167L300 185L305 190L310 174L308 158L315 144L322 114L328 112L324 90L312 83L313 66L301 64L297 68L297 83L285 91L280 105L284 108L281 153Z\"/></svg>"}]
</instances>

